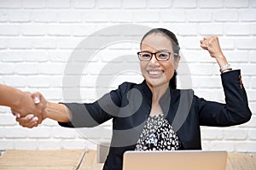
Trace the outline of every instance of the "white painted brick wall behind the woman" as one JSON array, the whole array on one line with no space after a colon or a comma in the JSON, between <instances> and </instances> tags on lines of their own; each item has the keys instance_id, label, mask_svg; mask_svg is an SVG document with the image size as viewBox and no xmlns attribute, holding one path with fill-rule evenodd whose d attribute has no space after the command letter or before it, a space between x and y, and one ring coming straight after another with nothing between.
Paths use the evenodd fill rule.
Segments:
<instances>
[{"instance_id":1,"label":"white painted brick wall behind the woman","mask_svg":"<svg viewBox=\"0 0 256 170\"><path fill-rule=\"evenodd\" d=\"M222 102L218 65L199 45L201 37L217 35L230 64L234 69L241 68L253 117L236 127L202 127L202 145L205 150L256 152L255 0L0 0L0 83L40 91L47 99L59 102L63 100L62 87L73 92L73 83L79 81L82 100L91 102L102 95L96 94L96 89L105 92L120 82L141 82L138 72L130 72L112 77L108 87L96 84L99 77L109 79L109 72L99 75L105 65L135 64L134 59L114 58L135 54L137 42L116 42L99 50L99 37L95 37L86 48L79 46L96 31L119 24L166 27L175 32L183 55L178 83L184 85L178 86L194 88L196 95ZM144 33L126 32L140 37ZM101 36L110 33L119 36L115 30ZM78 66L70 71L70 82L63 84L65 66L75 48L79 48ZM75 75L79 65L95 50L79 79L80 75ZM186 65L189 70L182 69ZM191 77L192 84L182 77ZM78 99L69 97L71 101ZM94 141L109 139L106 127L110 125L107 122L102 127L84 129L85 135L59 127L52 120L26 129L15 122L8 108L0 107L0 150L96 149Z\"/></svg>"}]
</instances>

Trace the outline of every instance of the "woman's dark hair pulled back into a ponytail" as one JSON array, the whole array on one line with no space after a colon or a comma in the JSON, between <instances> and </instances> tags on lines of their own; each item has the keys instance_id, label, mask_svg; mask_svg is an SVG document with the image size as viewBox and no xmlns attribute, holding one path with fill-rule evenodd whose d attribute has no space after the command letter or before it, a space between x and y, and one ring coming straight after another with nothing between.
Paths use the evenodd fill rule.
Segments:
<instances>
[{"instance_id":1,"label":"woman's dark hair pulled back into a ponytail","mask_svg":"<svg viewBox=\"0 0 256 170\"><path fill-rule=\"evenodd\" d=\"M177 42L177 37L175 36L174 33L172 33L172 31L166 30L165 28L154 28L150 31L148 31L144 36L143 39L141 41L141 47L142 47L142 43L145 37L147 37L150 34L154 34L154 33L160 33L163 36L167 37L171 42L172 42L172 49L173 52L176 53L177 55L179 54L179 46L178 46L178 42ZM175 55L177 57L177 55ZM172 76L172 79L170 80L170 85L172 89L176 89L177 88L177 71L174 71L174 74Z\"/></svg>"}]
</instances>

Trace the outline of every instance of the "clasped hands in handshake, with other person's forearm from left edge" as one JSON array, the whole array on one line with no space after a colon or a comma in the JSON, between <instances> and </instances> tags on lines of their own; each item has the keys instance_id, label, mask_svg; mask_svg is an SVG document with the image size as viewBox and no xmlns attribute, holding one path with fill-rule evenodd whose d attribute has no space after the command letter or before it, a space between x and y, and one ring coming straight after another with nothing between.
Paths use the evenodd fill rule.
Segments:
<instances>
[{"instance_id":1,"label":"clasped hands in handshake, with other person's forearm from left edge","mask_svg":"<svg viewBox=\"0 0 256 170\"><path fill-rule=\"evenodd\" d=\"M37 127L47 117L47 101L40 93L26 93L0 84L0 105L9 106L22 127Z\"/></svg>"}]
</instances>

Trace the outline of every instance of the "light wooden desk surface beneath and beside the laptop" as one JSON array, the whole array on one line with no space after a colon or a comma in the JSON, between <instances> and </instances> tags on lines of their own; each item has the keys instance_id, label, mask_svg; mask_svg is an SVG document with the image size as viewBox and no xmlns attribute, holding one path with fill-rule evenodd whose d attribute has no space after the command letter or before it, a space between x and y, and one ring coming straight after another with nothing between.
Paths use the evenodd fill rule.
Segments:
<instances>
[{"instance_id":1,"label":"light wooden desk surface beneath and beside the laptop","mask_svg":"<svg viewBox=\"0 0 256 170\"><path fill-rule=\"evenodd\" d=\"M96 150L7 150L0 156L1 170L101 170ZM226 170L255 170L256 154L229 153Z\"/></svg>"}]
</instances>

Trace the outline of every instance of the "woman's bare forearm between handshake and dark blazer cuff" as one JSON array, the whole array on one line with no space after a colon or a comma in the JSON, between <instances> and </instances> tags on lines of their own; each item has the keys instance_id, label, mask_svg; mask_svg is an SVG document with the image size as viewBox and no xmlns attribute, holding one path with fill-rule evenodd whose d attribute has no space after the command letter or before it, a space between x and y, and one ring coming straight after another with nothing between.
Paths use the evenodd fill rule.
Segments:
<instances>
[{"instance_id":1,"label":"woman's bare forearm between handshake and dark blazer cuff","mask_svg":"<svg viewBox=\"0 0 256 170\"><path fill-rule=\"evenodd\" d=\"M47 102L45 108L46 116L57 122L71 122L72 113L66 105Z\"/></svg>"}]
</instances>

